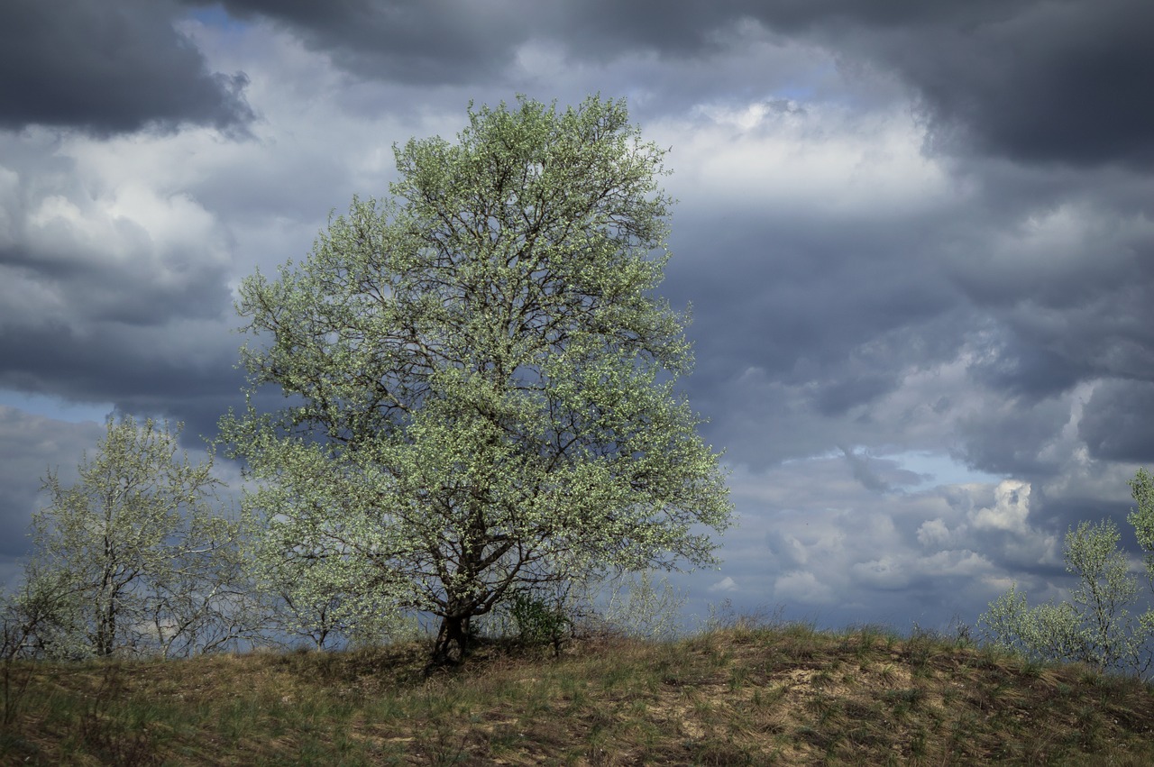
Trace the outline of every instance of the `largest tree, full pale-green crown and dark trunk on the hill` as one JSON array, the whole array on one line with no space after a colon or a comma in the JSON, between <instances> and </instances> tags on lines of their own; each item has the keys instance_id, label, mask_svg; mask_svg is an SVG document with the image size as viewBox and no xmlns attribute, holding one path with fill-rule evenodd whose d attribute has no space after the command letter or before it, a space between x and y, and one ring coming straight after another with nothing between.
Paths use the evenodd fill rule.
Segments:
<instances>
[{"instance_id":1,"label":"largest tree, full pale-green crown and dark trunk on the hill","mask_svg":"<svg viewBox=\"0 0 1154 767\"><path fill-rule=\"evenodd\" d=\"M684 317L654 295L665 152L595 97L470 107L457 143L394 151L391 200L354 197L305 263L240 288L267 333L249 394L291 398L222 420L263 556L307 601L439 616L441 663L514 593L713 563L698 526L726 527L728 491L673 388Z\"/></svg>"}]
</instances>

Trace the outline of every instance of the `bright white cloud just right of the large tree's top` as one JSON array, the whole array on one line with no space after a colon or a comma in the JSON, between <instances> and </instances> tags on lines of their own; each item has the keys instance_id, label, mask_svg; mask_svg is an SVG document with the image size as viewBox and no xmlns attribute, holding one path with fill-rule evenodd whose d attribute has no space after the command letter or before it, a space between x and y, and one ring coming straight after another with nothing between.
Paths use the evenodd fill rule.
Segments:
<instances>
[{"instance_id":1,"label":"bright white cloud just right of the large tree's top","mask_svg":"<svg viewBox=\"0 0 1154 767\"><path fill-rule=\"evenodd\" d=\"M904 106L862 113L833 103L705 104L664 123L677 148L670 187L687 202L756 209L773 219L902 218L957 202L959 188L922 155Z\"/></svg>"}]
</instances>

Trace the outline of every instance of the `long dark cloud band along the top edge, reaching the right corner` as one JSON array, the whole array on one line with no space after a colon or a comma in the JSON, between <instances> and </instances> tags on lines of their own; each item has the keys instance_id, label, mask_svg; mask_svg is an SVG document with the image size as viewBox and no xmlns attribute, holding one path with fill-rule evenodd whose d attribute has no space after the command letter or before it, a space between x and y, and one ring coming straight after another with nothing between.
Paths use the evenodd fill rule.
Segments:
<instances>
[{"instance_id":1,"label":"long dark cloud band along the top edge, reaching the right corner","mask_svg":"<svg viewBox=\"0 0 1154 767\"><path fill-rule=\"evenodd\" d=\"M575 62L638 52L709 59L750 23L809 39L847 68L896 73L920 97L930 145L1024 163L1154 163L1154 6L1146 0L523 0L400 3L226 0L238 17L294 30L361 76L470 83L540 42Z\"/></svg>"}]
</instances>

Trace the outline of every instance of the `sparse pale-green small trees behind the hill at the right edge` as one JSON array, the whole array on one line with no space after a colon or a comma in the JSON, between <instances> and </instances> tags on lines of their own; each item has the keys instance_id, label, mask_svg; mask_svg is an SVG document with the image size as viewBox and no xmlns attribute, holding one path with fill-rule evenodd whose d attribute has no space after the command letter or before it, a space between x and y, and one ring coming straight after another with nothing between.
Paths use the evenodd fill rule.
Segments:
<instances>
[{"instance_id":1,"label":"sparse pale-green small trees behind the hill at the right edge","mask_svg":"<svg viewBox=\"0 0 1154 767\"><path fill-rule=\"evenodd\" d=\"M1147 576L1154 576L1154 492L1139 469L1130 482L1139 509L1130 514L1146 551ZM1017 586L990 602L979 624L996 646L1047 661L1077 661L1099 669L1145 674L1154 661L1154 612L1131 612L1138 601L1138 578L1118 548L1111 520L1081 522L1065 539L1066 571L1078 584L1065 602L1031 608Z\"/></svg>"}]
</instances>

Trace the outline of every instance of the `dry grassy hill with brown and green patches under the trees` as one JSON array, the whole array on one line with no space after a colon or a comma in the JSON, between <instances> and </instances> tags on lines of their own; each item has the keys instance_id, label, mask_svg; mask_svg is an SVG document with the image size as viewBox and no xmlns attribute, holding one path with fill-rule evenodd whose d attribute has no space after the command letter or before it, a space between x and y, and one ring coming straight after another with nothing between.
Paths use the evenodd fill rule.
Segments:
<instances>
[{"instance_id":1,"label":"dry grassy hill with brown and green patches under the trees","mask_svg":"<svg viewBox=\"0 0 1154 767\"><path fill-rule=\"evenodd\" d=\"M0 764L1147 765L1154 690L874 626L16 663Z\"/></svg>"}]
</instances>

